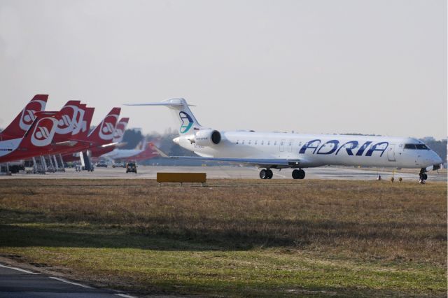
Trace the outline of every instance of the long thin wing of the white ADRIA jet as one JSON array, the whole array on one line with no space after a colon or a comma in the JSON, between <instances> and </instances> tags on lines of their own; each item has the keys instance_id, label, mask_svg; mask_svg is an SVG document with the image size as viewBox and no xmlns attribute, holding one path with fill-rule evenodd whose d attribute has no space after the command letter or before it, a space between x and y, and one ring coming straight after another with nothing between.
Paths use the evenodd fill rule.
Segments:
<instances>
[{"instance_id":1,"label":"long thin wing of the white ADRIA jet","mask_svg":"<svg viewBox=\"0 0 448 298\"><path fill-rule=\"evenodd\" d=\"M298 166L300 159L277 158L234 158L234 157L200 157L200 156L170 156L175 159L203 160L204 162L229 162L231 164L244 164L245 166Z\"/></svg>"}]
</instances>

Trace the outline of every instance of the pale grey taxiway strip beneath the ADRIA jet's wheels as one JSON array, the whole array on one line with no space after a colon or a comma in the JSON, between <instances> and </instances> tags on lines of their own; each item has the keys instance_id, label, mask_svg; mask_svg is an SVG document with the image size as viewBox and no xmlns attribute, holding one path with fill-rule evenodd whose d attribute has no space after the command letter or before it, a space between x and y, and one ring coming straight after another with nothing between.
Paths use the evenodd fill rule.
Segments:
<instances>
[{"instance_id":1,"label":"pale grey taxiway strip beneath the ADRIA jet's wheels","mask_svg":"<svg viewBox=\"0 0 448 298\"><path fill-rule=\"evenodd\" d=\"M334 166L322 166L318 168L304 169L306 171L305 179L339 179L339 180L375 180L378 175L381 178L389 180L392 176L395 179L402 178L405 181L417 181L419 179L418 169L405 169L393 171L393 169L358 169L341 168ZM95 168L93 172L76 172L74 169L66 169L65 172L29 174L17 173L12 176L0 176L6 179L17 178L82 178L82 179L155 179L158 172L205 172L209 179L256 179L259 169L253 167L241 166L139 166L138 173L126 173L123 168ZM292 179L292 169L283 169L281 171L273 170L273 179ZM447 181L447 170L428 172L428 182Z\"/></svg>"}]
</instances>

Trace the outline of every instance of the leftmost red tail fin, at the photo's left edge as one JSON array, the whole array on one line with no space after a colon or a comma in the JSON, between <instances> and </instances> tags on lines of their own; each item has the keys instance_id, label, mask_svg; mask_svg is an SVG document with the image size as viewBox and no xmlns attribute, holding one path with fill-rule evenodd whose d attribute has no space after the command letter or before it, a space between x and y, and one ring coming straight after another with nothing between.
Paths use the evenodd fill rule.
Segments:
<instances>
[{"instance_id":1,"label":"leftmost red tail fin, at the photo's left edge","mask_svg":"<svg viewBox=\"0 0 448 298\"><path fill-rule=\"evenodd\" d=\"M31 124L33 123L35 117L34 113L45 110L45 105L47 104L48 95L47 94L37 94L29 101L27 106L17 115L13 122L0 132L2 139L12 136L15 138L22 137Z\"/></svg>"}]
</instances>

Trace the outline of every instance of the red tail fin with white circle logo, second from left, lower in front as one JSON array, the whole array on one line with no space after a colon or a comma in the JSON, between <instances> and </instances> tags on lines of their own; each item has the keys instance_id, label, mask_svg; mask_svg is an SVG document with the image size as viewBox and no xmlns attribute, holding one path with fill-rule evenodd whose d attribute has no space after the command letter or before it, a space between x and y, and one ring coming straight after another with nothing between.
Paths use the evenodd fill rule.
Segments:
<instances>
[{"instance_id":1,"label":"red tail fin with white circle logo, second from left, lower in front","mask_svg":"<svg viewBox=\"0 0 448 298\"><path fill-rule=\"evenodd\" d=\"M20 148L28 150L45 150L50 148L50 144L55 136L57 124L62 120L60 112L38 112L35 120L27 130L20 142Z\"/></svg>"}]
</instances>

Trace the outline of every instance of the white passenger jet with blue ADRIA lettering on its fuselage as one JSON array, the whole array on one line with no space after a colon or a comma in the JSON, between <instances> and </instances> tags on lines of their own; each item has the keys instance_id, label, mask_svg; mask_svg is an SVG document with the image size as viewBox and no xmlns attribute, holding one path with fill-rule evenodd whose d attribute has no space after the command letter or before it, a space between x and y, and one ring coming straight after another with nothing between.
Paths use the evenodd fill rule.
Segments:
<instances>
[{"instance_id":1,"label":"white passenger jet with blue ADRIA lettering on its fuselage","mask_svg":"<svg viewBox=\"0 0 448 298\"><path fill-rule=\"evenodd\" d=\"M272 178L271 169L293 168L293 178L303 179L304 168L341 166L391 166L440 169L442 159L423 142L402 137L337 134L293 134L281 132L221 132L202 127L185 99L127 106L167 106L180 121L179 137L173 139L199 157L174 157L232 162L262 168L260 178Z\"/></svg>"}]
</instances>

